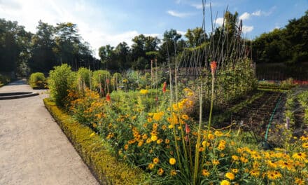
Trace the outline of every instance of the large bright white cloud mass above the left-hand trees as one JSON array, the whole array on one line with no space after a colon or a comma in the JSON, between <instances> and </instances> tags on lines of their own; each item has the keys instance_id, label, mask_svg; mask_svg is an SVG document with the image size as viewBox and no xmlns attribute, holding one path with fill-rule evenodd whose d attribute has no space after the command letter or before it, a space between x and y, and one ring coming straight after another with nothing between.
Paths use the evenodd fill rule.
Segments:
<instances>
[{"instance_id":1,"label":"large bright white cloud mass above the left-hand trees","mask_svg":"<svg viewBox=\"0 0 308 185\"><path fill-rule=\"evenodd\" d=\"M127 17L124 14L119 15ZM98 57L100 46L110 44L117 46L125 41L129 46L132 38L139 35L136 30L115 32L105 11L101 7L93 7L87 1L62 1L62 0L0 0L0 18L18 21L19 25L25 26L29 32L36 33L38 21L56 25L59 22L73 22L77 24L79 34L84 41L90 43L94 55ZM159 36L159 34L148 34Z\"/></svg>"}]
</instances>

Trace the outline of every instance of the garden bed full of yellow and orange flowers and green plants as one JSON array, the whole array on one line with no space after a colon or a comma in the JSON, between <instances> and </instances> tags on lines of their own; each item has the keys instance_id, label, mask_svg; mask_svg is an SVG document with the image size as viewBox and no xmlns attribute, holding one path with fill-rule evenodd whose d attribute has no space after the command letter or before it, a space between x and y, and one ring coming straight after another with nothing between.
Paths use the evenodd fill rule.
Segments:
<instances>
[{"instance_id":1,"label":"garden bed full of yellow and orange flowers and green plants","mask_svg":"<svg viewBox=\"0 0 308 185\"><path fill-rule=\"evenodd\" d=\"M216 63L211 62L206 78L184 84L170 74L169 81L160 79L159 83L153 81L157 77L153 73L137 78L144 79L144 85L127 78L107 78L108 71L85 69L82 75L62 65L50 71L48 85L58 106L97 132L118 161L143 169L151 184L304 184L308 137L263 151L247 143L246 133L234 131L232 125L212 127L214 104L226 106L254 89L253 81L246 78L252 75L250 69L239 64L239 70L233 67L232 73L230 69L228 78L218 76L223 72L216 71ZM138 86L125 89L127 83ZM238 107L229 107L241 109L262 95L256 93Z\"/></svg>"}]
</instances>

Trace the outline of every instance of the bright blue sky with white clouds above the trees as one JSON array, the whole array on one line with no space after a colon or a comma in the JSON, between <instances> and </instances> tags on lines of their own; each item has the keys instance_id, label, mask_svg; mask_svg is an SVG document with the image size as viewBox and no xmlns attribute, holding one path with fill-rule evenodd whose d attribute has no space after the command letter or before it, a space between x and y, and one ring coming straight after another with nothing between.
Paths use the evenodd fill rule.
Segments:
<instances>
[{"instance_id":1,"label":"bright blue sky with white clouds above the trees","mask_svg":"<svg viewBox=\"0 0 308 185\"><path fill-rule=\"evenodd\" d=\"M228 6L231 13L239 13L247 39L284 27L308 11L308 0L208 0L207 32L211 31L210 2L216 26ZM50 25L76 23L97 55L99 46L116 46L122 41L131 45L138 34L162 38L167 29L185 34L188 28L200 27L202 0L0 0L0 18L17 20L34 33L38 20Z\"/></svg>"}]
</instances>

